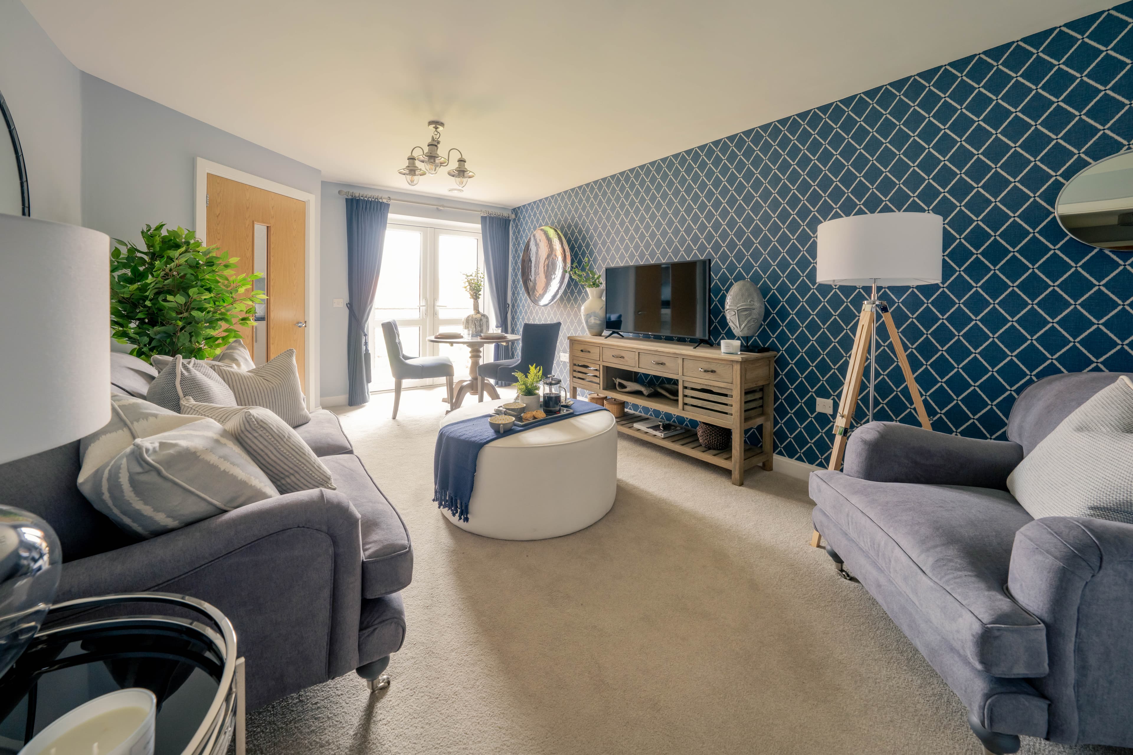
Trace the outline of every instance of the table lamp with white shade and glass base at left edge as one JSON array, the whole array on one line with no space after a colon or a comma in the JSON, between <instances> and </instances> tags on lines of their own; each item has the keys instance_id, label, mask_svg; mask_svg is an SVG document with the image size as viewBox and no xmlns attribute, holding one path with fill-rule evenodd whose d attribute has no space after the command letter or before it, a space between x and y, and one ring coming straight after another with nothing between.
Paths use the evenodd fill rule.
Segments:
<instances>
[{"instance_id":1,"label":"table lamp with white shade and glass base at left edge","mask_svg":"<svg viewBox=\"0 0 1133 755\"><path fill-rule=\"evenodd\" d=\"M0 215L0 464L110 421L110 238ZM0 675L39 630L62 552L0 491Z\"/></svg>"}]
</instances>

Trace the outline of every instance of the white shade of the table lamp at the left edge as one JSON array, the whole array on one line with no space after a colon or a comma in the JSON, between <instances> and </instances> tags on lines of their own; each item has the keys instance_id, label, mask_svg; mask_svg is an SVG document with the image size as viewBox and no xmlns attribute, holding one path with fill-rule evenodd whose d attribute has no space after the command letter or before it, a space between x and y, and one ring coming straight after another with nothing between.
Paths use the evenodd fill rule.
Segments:
<instances>
[{"instance_id":1,"label":"white shade of the table lamp at the left edge","mask_svg":"<svg viewBox=\"0 0 1133 755\"><path fill-rule=\"evenodd\" d=\"M0 215L0 463L110 421L110 237Z\"/></svg>"}]
</instances>

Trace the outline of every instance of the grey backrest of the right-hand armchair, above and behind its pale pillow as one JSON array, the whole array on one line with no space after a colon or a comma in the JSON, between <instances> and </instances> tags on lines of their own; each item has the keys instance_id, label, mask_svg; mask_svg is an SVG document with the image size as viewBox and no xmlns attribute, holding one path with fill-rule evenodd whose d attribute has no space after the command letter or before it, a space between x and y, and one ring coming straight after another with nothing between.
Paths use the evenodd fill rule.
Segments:
<instances>
[{"instance_id":1,"label":"grey backrest of the right-hand armchair, above and behind its pale pillow","mask_svg":"<svg viewBox=\"0 0 1133 755\"><path fill-rule=\"evenodd\" d=\"M1007 437L1031 453L1090 396L1133 372L1068 372L1042 378L1019 395L1007 418Z\"/></svg>"}]
</instances>

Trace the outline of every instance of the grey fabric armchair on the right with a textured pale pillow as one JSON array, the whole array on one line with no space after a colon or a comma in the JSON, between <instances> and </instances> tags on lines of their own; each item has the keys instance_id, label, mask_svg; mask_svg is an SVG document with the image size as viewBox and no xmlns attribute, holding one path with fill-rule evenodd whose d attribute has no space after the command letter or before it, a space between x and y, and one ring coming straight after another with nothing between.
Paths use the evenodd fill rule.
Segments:
<instances>
[{"instance_id":1,"label":"grey fabric armchair on the right with a textured pale pillow","mask_svg":"<svg viewBox=\"0 0 1133 755\"><path fill-rule=\"evenodd\" d=\"M1033 520L1007 475L1118 378L1020 395L1007 440L893 422L854 431L843 472L810 474L815 529L968 706L991 753L1019 735L1133 746L1133 525Z\"/></svg>"}]
</instances>

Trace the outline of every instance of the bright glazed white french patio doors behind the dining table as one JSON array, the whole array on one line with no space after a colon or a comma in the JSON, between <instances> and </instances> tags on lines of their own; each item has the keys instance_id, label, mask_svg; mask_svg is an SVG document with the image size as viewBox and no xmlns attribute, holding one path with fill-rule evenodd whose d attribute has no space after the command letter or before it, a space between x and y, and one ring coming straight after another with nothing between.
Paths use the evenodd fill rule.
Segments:
<instances>
[{"instance_id":1,"label":"bright glazed white french patio doors behind the dining table","mask_svg":"<svg viewBox=\"0 0 1133 755\"><path fill-rule=\"evenodd\" d=\"M465 274L476 268L484 269L484 251L480 234L475 231L402 223L386 226L369 327L374 366L370 391L393 388L382 335L382 321L389 319L398 323L401 348L407 357L448 357L458 380L468 376L467 346L429 343L426 338L442 331L460 331L461 321L472 311L471 300L465 291ZM486 298L485 288L482 311L487 311ZM443 378L404 380L402 386L443 381Z\"/></svg>"}]
</instances>

